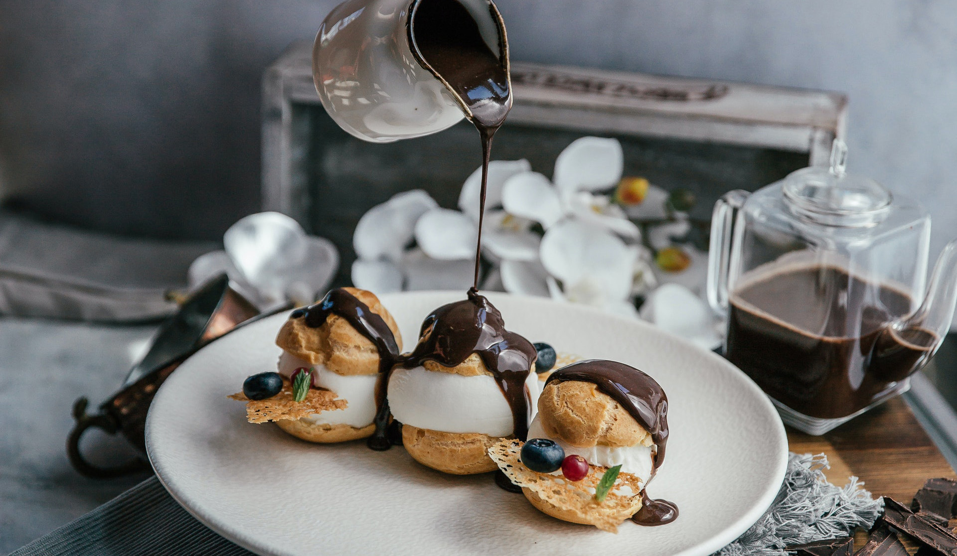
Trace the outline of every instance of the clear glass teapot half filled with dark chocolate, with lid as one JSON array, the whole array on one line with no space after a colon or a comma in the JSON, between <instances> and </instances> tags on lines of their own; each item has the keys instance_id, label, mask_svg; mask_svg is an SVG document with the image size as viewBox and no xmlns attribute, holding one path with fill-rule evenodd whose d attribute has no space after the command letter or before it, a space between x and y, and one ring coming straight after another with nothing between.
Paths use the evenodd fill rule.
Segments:
<instances>
[{"instance_id":1,"label":"clear glass teapot half filled with dark chocolate, with lid","mask_svg":"<svg viewBox=\"0 0 957 556\"><path fill-rule=\"evenodd\" d=\"M930 217L877 182L806 167L715 205L707 297L724 355L784 421L823 434L909 388L943 341L957 297L957 241L925 290Z\"/></svg>"}]
</instances>

